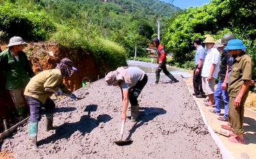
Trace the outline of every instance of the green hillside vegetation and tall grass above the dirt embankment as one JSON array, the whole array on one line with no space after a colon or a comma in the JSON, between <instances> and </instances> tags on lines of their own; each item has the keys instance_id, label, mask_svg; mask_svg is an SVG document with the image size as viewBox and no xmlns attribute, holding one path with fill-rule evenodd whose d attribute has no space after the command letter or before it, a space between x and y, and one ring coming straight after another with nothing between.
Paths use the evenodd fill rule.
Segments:
<instances>
[{"instance_id":1,"label":"green hillside vegetation and tall grass above the dirt embankment","mask_svg":"<svg viewBox=\"0 0 256 159\"><path fill-rule=\"evenodd\" d=\"M157 16L176 7L158 0L0 0L0 38L52 39L61 46L91 52L116 67L140 56L156 31Z\"/></svg>"}]
</instances>

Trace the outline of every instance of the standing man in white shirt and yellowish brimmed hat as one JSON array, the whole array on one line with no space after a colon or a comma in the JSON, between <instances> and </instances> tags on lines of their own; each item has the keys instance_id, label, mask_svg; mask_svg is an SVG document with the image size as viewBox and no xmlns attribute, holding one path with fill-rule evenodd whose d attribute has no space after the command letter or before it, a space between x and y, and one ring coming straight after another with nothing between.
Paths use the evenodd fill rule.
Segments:
<instances>
[{"instance_id":1,"label":"standing man in white shirt and yellowish brimmed hat","mask_svg":"<svg viewBox=\"0 0 256 159\"><path fill-rule=\"evenodd\" d=\"M203 43L207 48L207 54L203 63L202 70L202 85L203 91L208 95L208 101L205 102L206 106L214 106L214 84L215 79L218 77L218 68L220 65L220 52L214 48L214 38L207 37Z\"/></svg>"}]
</instances>

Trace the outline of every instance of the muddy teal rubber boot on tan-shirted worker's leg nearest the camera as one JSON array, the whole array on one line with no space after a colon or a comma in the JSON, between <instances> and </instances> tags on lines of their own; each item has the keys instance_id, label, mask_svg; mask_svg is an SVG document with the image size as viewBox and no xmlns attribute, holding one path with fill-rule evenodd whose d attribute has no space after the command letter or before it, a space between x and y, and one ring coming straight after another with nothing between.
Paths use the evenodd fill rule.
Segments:
<instances>
[{"instance_id":1,"label":"muddy teal rubber boot on tan-shirted worker's leg nearest the camera","mask_svg":"<svg viewBox=\"0 0 256 159\"><path fill-rule=\"evenodd\" d=\"M38 151L38 122L29 122L29 146L32 150Z\"/></svg>"}]
</instances>

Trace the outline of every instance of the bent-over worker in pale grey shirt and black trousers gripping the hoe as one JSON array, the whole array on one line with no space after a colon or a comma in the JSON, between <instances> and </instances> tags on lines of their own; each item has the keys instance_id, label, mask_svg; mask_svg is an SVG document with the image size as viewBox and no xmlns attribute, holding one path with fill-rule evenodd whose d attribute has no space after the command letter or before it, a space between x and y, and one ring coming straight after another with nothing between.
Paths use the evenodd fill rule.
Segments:
<instances>
[{"instance_id":1,"label":"bent-over worker in pale grey shirt and black trousers gripping the hoe","mask_svg":"<svg viewBox=\"0 0 256 159\"><path fill-rule=\"evenodd\" d=\"M139 116L139 104L137 98L141 90L147 84L147 75L138 67L119 67L111 71L105 77L106 83L111 86L119 86L122 90L122 120L126 120L128 100L131 105L131 120L136 122Z\"/></svg>"}]
</instances>

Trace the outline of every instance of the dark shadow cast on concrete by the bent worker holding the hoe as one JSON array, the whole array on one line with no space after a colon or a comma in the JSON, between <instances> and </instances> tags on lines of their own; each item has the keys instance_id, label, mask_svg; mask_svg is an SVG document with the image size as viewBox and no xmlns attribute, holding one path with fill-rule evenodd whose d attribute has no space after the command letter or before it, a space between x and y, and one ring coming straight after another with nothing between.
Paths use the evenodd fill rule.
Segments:
<instances>
[{"instance_id":1,"label":"dark shadow cast on concrete by the bent worker holding the hoe","mask_svg":"<svg viewBox=\"0 0 256 159\"><path fill-rule=\"evenodd\" d=\"M130 133L126 140L130 139L130 137L132 137L132 133L134 133L135 130L142 126L145 122L149 122L150 120L156 118L156 116L165 114L167 112L165 109L158 107L140 107L140 109L143 111L140 111L138 122L135 123L134 126L132 126L130 129Z\"/></svg>"}]
</instances>

